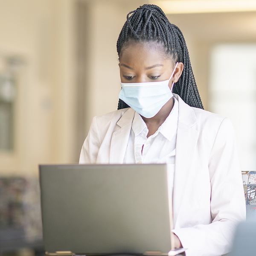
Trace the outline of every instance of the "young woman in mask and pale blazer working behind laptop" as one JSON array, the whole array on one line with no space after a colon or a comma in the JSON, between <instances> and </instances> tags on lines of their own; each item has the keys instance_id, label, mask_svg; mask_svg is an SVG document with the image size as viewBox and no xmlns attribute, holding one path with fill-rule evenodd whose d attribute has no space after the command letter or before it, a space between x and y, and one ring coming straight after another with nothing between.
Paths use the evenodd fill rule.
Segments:
<instances>
[{"instance_id":1,"label":"young woman in mask and pale blazer working behind laptop","mask_svg":"<svg viewBox=\"0 0 256 256\"><path fill-rule=\"evenodd\" d=\"M94 117L80 163L169 164L175 247L229 252L245 218L235 135L229 119L203 110L180 29L145 4L128 14L117 52L119 110Z\"/></svg>"}]
</instances>

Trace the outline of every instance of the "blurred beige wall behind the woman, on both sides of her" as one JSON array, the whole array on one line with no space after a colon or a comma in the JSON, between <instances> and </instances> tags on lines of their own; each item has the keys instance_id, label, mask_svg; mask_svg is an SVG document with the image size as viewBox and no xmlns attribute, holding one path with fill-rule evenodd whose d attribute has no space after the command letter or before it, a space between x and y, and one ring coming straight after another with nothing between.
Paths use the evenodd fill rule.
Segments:
<instances>
[{"instance_id":1,"label":"blurred beige wall behind the woman, on both sides of her","mask_svg":"<svg viewBox=\"0 0 256 256\"><path fill-rule=\"evenodd\" d=\"M93 116L117 108L116 40L128 12L145 2L0 0L0 56L24 62L17 71L15 149L0 151L0 175L37 175L39 163L78 160ZM168 17L185 36L207 109L209 50L217 42L256 41L256 15Z\"/></svg>"}]
</instances>

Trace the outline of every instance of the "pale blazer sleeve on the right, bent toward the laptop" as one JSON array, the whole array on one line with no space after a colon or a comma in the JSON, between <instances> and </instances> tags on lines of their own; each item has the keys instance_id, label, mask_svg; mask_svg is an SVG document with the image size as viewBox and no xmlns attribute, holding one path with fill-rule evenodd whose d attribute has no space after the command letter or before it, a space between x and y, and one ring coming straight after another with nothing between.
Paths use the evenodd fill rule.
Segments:
<instances>
[{"instance_id":1,"label":"pale blazer sleeve on the right, bent toward the laptop","mask_svg":"<svg viewBox=\"0 0 256 256\"><path fill-rule=\"evenodd\" d=\"M175 229L186 256L216 256L232 247L236 225L245 220L245 199L236 139L229 119L221 122L209 157L211 224Z\"/></svg>"}]
</instances>

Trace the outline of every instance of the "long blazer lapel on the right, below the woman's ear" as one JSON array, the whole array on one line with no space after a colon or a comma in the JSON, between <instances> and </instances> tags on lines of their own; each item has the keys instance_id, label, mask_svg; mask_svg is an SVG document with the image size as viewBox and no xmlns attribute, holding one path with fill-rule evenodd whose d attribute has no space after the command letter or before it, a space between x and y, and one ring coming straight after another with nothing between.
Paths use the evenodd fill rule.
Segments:
<instances>
[{"instance_id":1,"label":"long blazer lapel on the right, below the woman's ear","mask_svg":"<svg viewBox=\"0 0 256 256\"><path fill-rule=\"evenodd\" d=\"M186 192L195 147L199 132L193 128L197 123L194 110L176 96L179 101L179 119L176 140L175 175L173 187L174 227L177 221L183 197Z\"/></svg>"}]
</instances>

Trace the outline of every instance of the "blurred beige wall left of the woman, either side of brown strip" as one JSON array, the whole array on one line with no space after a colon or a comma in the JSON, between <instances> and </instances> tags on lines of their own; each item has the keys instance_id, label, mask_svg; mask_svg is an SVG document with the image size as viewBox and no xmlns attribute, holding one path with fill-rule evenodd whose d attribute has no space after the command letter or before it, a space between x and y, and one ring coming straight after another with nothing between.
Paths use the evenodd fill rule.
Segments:
<instances>
[{"instance_id":1,"label":"blurred beige wall left of the woman, either side of brown strip","mask_svg":"<svg viewBox=\"0 0 256 256\"><path fill-rule=\"evenodd\" d=\"M85 4L84 116L77 119L77 12ZM117 108L116 40L140 0L0 0L0 55L19 56L15 147L0 175L37 175L39 163L77 162L93 116ZM80 43L81 44L81 43ZM83 122L82 138L77 126Z\"/></svg>"}]
</instances>

